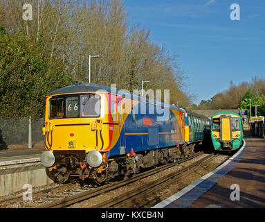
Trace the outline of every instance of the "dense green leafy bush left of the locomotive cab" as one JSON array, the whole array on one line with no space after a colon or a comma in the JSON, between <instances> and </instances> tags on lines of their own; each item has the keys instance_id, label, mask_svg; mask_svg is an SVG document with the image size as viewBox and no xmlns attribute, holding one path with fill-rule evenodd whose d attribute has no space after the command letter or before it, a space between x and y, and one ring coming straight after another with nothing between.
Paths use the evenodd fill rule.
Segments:
<instances>
[{"instance_id":1,"label":"dense green leafy bush left of the locomotive cab","mask_svg":"<svg viewBox=\"0 0 265 222\"><path fill-rule=\"evenodd\" d=\"M50 62L25 35L0 35L0 55L0 117L44 117L45 95L71 83L63 62Z\"/></svg>"}]
</instances>

